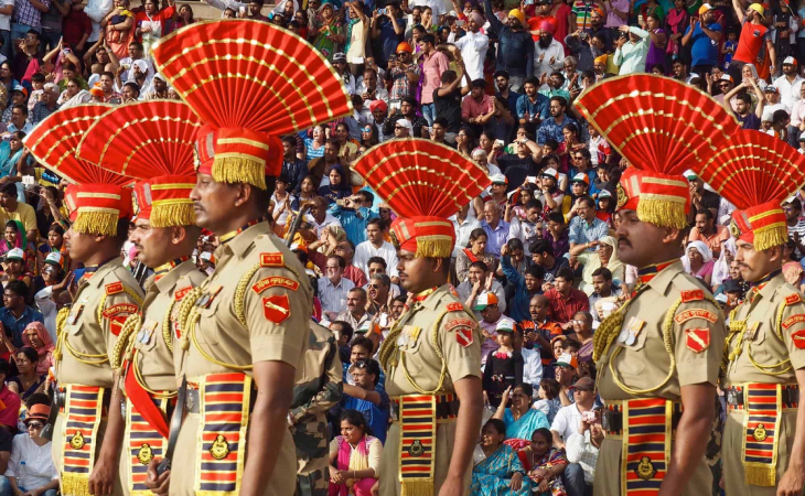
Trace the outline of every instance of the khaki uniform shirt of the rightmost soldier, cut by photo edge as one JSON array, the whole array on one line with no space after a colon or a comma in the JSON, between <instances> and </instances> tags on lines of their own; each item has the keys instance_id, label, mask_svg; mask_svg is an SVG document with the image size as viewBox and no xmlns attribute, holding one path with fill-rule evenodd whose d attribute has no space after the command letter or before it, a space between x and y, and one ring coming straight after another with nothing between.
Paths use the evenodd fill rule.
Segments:
<instances>
[{"instance_id":1,"label":"khaki uniform shirt of the rightmost soldier, cut by photo edge","mask_svg":"<svg viewBox=\"0 0 805 496\"><path fill-rule=\"evenodd\" d=\"M741 346L741 354L728 365L723 386L796 384L796 370L805 367L805 303L782 273L750 296L753 292L732 315L733 321L745 322L747 331L743 339L736 335L730 341L727 353ZM782 365L773 367L777 364Z\"/></svg>"}]
</instances>

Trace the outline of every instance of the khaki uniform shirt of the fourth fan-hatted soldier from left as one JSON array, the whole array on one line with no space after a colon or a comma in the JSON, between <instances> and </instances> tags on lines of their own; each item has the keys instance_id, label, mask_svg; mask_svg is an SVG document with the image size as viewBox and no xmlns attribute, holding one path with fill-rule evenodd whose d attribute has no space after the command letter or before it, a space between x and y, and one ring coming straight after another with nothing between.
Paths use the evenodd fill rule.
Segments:
<instances>
[{"instance_id":1,"label":"khaki uniform shirt of the fourth fan-hatted soldier from left","mask_svg":"<svg viewBox=\"0 0 805 496\"><path fill-rule=\"evenodd\" d=\"M455 310L448 310L450 304ZM439 317L441 322L434 330ZM420 393L406 378L404 368L420 389L436 391L439 388L442 359L434 343L439 344L447 363L447 377L439 392L454 392L453 382L464 377L481 377L481 327L450 292L449 285L442 285L422 302L415 303L395 324L395 328L399 327L402 333L397 343L391 344L397 346L397 366L386 370L389 396Z\"/></svg>"}]
</instances>

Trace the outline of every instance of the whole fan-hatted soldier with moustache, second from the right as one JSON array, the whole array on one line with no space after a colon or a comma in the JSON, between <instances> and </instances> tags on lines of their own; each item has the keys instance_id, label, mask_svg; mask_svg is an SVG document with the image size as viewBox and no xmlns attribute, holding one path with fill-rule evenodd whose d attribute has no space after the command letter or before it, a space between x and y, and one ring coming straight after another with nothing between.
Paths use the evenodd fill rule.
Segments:
<instances>
[{"instance_id":1,"label":"whole fan-hatted soldier with moustache, second from the right","mask_svg":"<svg viewBox=\"0 0 805 496\"><path fill-rule=\"evenodd\" d=\"M724 327L709 290L679 260L690 208L681 172L695 152L726 139L721 129L734 121L707 96L673 79L630 76L614 83L597 85L578 105L632 164L618 192L623 222L616 234L619 257L640 268L640 282L594 336L607 438L593 492L700 496L712 490L705 449ZM663 104L667 108L655 111ZM634 118L642 112L623 115L624 108L698 127L668 133L667 121L646 123Z\"/></svg>"}]
</instances>

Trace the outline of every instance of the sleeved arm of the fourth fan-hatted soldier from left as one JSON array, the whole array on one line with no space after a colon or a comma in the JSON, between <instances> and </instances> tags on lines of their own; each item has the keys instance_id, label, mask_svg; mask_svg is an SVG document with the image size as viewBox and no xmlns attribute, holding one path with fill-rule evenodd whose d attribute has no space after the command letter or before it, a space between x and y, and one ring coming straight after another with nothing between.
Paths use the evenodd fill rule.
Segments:
<instances>
[{"instance_id":1,"label":"sleeved arm of the fourth fan-hatted soldier from left","mask_svg":"<svg viewBox=\"0 0 805 496\"><path fill-rule=\"evenodd\" d=\"M481 363L481 328L465 312L451 312L439 330L448 374L461 402L455 421L453 456L439 496L465 494L464 474L481 429L483 396L477 364Z\"/></svg>"}]
</instances>

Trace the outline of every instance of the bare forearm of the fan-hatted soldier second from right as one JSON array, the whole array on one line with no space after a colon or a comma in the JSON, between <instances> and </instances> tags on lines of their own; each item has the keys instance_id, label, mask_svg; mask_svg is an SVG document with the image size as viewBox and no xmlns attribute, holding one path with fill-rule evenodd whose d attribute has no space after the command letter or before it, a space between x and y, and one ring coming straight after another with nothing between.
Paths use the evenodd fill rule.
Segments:
<instances>
[{"instance_id":1,"label":"bare forearm of the fan-hatted soldier second from right","mask_svg":"<svg viewBox=\"0 0 805 496\"><path fill-rule=\"evenodd\" d=\"M711 384L681 387L684 410L676 430L676 443L670 453L668 472L657 496L683 494L690 476L696 472L710 440L712 418L716 414L715 398L716 387Z\"/></svg>"}]
</instances>

